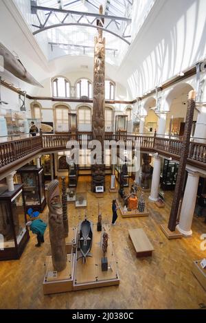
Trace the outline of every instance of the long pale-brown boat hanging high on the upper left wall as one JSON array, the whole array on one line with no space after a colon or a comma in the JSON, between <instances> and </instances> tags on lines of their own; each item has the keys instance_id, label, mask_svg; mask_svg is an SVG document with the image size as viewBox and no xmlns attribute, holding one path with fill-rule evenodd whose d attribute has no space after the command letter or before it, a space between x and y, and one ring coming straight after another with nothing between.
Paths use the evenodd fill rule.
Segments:
<instances>
[{"instance_id":1,"label":"long pale-brown boat hanging high on the upper left wall","mask_svg":"<svg viewBox=\"0 0 206 323\"><path fill-rule=\"evenodd\" d=\"M36 87L43 87L33 76L25 69L21 60L16 58L2 43L0 43L0 55L3 56L3 67L10 71L16 78L20 78Z\"/></svg>"}]
</instances>

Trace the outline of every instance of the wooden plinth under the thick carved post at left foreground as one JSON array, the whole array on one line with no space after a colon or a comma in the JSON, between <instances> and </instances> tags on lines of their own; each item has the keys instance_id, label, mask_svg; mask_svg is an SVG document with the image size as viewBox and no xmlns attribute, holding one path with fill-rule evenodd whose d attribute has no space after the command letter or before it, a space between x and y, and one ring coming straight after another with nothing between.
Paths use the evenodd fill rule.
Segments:
<instances>
[{"instance_id":1,"label":"wooden plinth under the thick carved post at left foreground","mask_svg":"<svg viewBox=\"0 0 206 323\"><path fill-rule=\"evenodd\" d=\"M46 257L46 273L43 281L43 293L45 295L72 291L74 262L75 254L67 254L67 267L59 273L56 273L52 265L52 256Z\"/></svg>"}]
</instances>

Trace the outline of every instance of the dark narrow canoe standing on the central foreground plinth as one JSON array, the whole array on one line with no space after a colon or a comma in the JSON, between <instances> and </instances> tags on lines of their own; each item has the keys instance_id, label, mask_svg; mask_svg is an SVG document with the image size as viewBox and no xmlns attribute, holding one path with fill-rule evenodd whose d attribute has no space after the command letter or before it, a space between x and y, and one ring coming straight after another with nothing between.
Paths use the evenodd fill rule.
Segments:
<instances>
[{"instance_id":1,"label":"dark narrow canoe standing on the central foreground plinth","mask_svg":"<svg viewBox=\"0 0 206 323\"><path fill-rule=\"evenodd\" d=\"M79 235L79 247L80 247L80 257L83 257L83 261L86 261L87 256L91 256L90 250L92 246L93 239L93 225L90 221L85 219L80 223L80 235Z\"/></svg>"}]
</instances>

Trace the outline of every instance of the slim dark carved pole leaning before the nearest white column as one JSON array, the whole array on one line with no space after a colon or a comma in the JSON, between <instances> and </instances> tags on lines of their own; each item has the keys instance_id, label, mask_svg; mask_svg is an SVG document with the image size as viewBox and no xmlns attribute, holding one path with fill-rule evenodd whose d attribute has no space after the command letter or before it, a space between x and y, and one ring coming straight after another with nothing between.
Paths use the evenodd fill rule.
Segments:
<instances>
[{"instance_id":1,"label":"slim dark carved pole leaning before the nearest white column","mask_svg":"<svg viewBox=\"0 0 206 323\"><path fill-rule=\"evenodd\" d=\"M195 98L196 98L196 92L190 91L188 100L187 100L187 116L185 120L185 131L183 136L183 143L181 145L181 158L179 161L179 169L176 177L176 186L174 190L174 197L172 201L172 208L170 212L170 219L168 223L168 229L170 231L175 231L176 227L176 219L178 216L178 210L179 210L179 203L181 200L181 193L183 189L183 181L185 176L185 168L187 164L187 157L189 154L189 148L190 148L190 134L192 130L192 121L193 121L193 115L194 115L194 107L195 107Z\"/></svg>"}]
</instances>

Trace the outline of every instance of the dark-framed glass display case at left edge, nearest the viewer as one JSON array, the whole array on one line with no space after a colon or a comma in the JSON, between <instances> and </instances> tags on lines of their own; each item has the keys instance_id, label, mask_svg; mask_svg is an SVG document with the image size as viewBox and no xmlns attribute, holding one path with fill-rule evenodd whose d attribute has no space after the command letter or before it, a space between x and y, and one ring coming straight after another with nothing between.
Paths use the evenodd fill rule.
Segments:
<instances>
[{"instance_id":1,"label":"dark-framed glass display case at left edge, nearest the viewer","mask_svg":"<svg viewBox=\"0 0 206 323\"><path fill-rule=\"evenodd\" d=\"M14 185L13 191L0 190L0 260L19 259L30 238L25 225L23 186Z\"/></svg>"}]
</instances>

